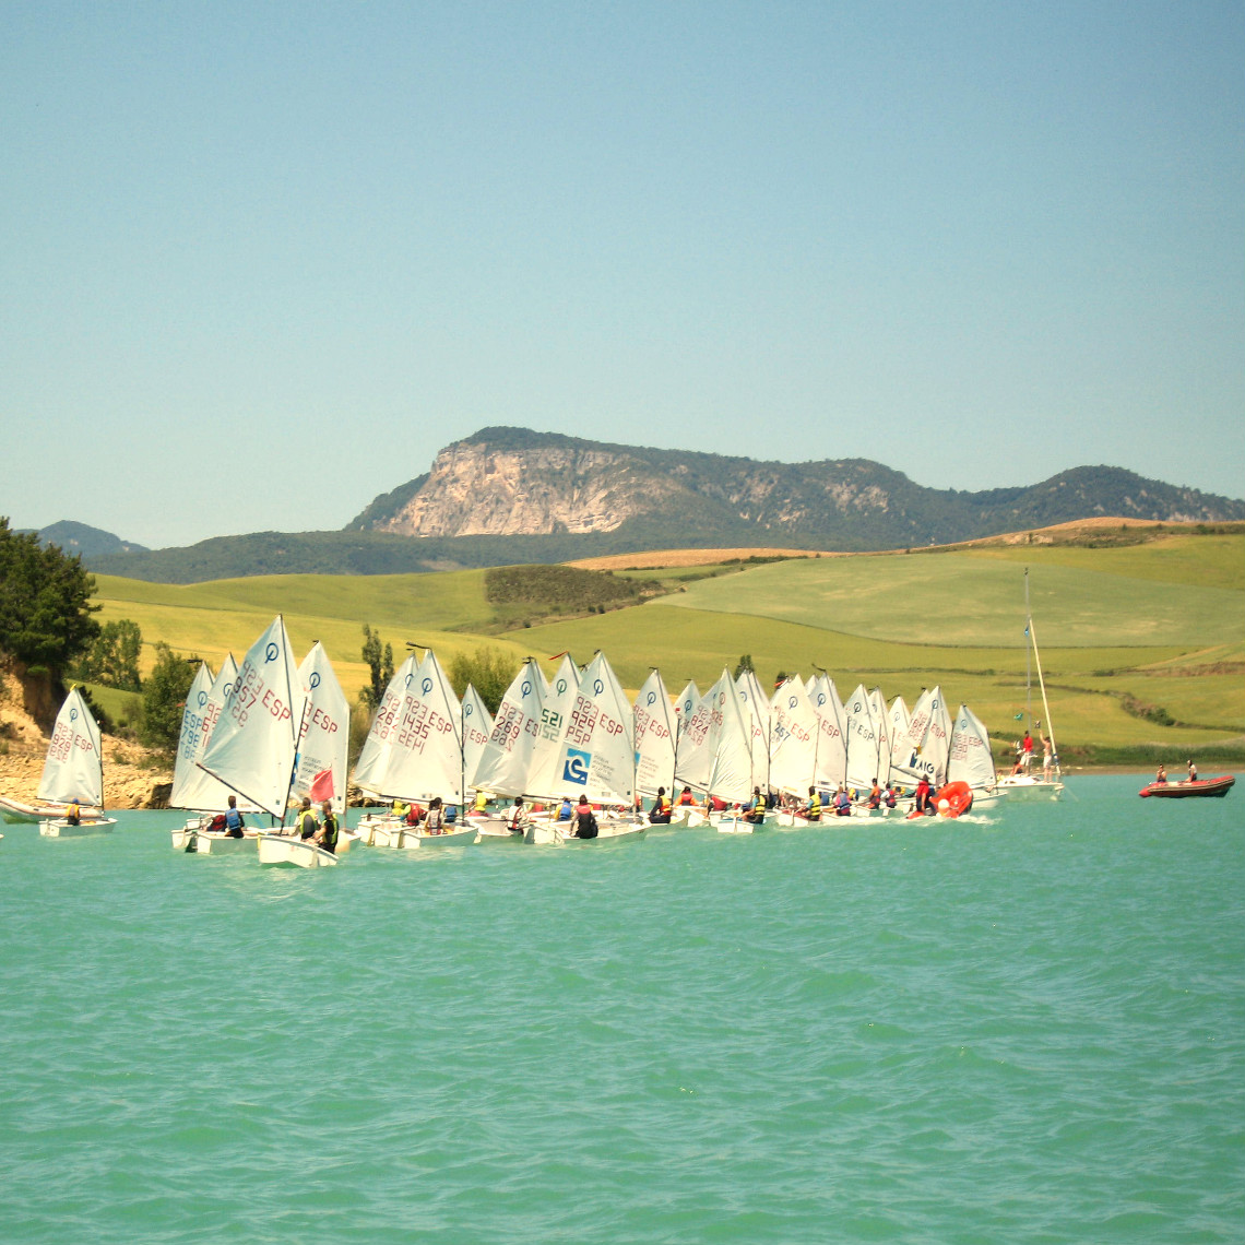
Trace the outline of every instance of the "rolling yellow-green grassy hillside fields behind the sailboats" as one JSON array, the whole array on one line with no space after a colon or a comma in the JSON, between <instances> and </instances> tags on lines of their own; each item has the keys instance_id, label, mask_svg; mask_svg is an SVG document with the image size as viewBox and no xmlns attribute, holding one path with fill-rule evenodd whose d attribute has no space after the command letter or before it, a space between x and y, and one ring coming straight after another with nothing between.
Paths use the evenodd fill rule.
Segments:
<instances>
[{"instance_id":1,"label":"rolling yellow-green grassy hillside fields behind the sailboats","mask_svg":"<svg viewBox=\"0 0 1245 1245\"><path fill-rule=\"evenodd\" d=\"M1245 535L1162 537L1123 548L987 545L645 570L645 605L489 634L486 571L289 575L171 586L100 576L103 620L129 618L213 665L285 614L295 647L322 640L347 695L362 686L364 622L405 654L443 660L491 645L515 657L609 656L636 688L660 666L671 693L703 690L749 654L763 682L822 666L842 695L878 685L909 705L940 684L996 740L1026 705L1023 568L1051 715L1066 758L1147 763L1182 752L1245 761ZM148 656L149 660L149 656ZM550 667L552 669L552 665ZM1035 677L1035 705L1037 701ZM1041 708L1035 712L1041 715Z\"/></svg>"}]
</instances>

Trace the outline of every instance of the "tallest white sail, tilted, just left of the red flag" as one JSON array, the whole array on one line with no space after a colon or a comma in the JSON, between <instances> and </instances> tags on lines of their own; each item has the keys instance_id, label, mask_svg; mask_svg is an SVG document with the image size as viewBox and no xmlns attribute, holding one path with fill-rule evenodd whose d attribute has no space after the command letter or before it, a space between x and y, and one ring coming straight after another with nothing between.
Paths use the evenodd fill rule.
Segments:
<instances>
[{"instance_id":1,"label":"tallest white sail, tilted, just left of the red flag","mask_svg":"<svg viewBox=\"0 0 1245 1245\"><path fill-rule=\"evenodd\" d=\"M273 817L284 817L290 793L299 730L295 715L303 701L298 680L285 620L278 614L247 650L198 762Z\"/></svg>"}]
</instances>

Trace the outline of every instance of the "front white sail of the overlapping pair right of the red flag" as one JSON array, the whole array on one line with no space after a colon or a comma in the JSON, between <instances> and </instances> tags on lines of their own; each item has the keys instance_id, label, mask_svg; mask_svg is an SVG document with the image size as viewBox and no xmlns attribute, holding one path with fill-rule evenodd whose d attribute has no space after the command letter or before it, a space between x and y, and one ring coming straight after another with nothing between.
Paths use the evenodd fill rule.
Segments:
<instances>
[{"instance_id":1,"label":"front white sail of the overlapping pair right of the red flag","mask_svg":"<svg viewBox=\"0 0 1245 1245\"><path fill-rule=\"evenodd\" d=\"M410 680L403 680L393 725L387 735L383 769L386 797L448 803L463 799L461 706L436 654L427 649Z\"/></svg>"}]
</instances>

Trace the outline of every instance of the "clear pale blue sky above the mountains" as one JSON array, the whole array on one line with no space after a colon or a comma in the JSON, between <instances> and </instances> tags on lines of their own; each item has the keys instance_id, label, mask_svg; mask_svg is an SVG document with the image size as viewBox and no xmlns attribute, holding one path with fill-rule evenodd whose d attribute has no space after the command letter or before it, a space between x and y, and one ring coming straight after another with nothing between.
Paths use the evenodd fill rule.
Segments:
<instances>
[{"instance_id":1,"label":"clear pale blue sky above the mountains","mask_svg":"<svg viewBox=\"0 0 1245 1245\"><path fill-rule=\"evenodd\" d=\"M1243 497L1243 65L1240 2L0 2L0 514L339 528L487 425Z\"/></svg>"}]
</instances>

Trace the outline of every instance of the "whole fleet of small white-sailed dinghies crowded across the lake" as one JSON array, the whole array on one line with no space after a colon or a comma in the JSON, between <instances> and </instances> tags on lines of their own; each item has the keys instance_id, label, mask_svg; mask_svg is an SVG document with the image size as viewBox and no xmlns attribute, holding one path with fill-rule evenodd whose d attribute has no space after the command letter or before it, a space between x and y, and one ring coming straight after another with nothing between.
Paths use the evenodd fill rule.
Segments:
<instances>
[{"instance_id":1,"label":"whole fleet of small white-sailed dinghies crowded across the lake","mask_svg":"<svg viewBox=\"0 0 1245 1245\"><path fill-rule=\"evenodd\" d=\"M1027 651L1053 746L1027 571L1025 588ZM672 701L652 669L631 702L604 652L583 667L560 654L553 679L529 657L493 717L473 687L462 698L454 693L431 649L422 657L417 651L385 690L354 773L367 797L392 807L366 815L356 832L341 830L337 850L355 839L397 850L518 838L560 845L574 830L550 809L576 797L601 812L595 839L609 840L645 832L645 801L675 824L751 833L820 819L814 793L829 819L835 812L886 815L896 802L878 801L879 788L906 796L923 781L933 791L952 784L979 808L1003 797L1058 798L1063 789L1050 772L996 781L985 725L967 705L951 713L940 687L923 690L909 711L901 696L888 703L880 688L863 684L844 701L823 670L788 677L771 696L752 670L723 670L705 693L690 681ZM288 820L311 801L344 824L349 727L350 707L324 646L316 642L295 665L280 615L240 665L232 655L215 675L202 665L186 701L169 798L192 815L173 832L173 847L253 852L266 864L336 864L336 852L295 834ZM77 691L57 716L39 798L29 812L42 817L47 837L115 823L103 815L100 730ZM514 804L491 812L494 801ZM70 802L81 802L82 815L55 815ZM253 820L268 817L269 828L229 833L230 804ZM408 804L436 807L438 815L406 818ZM9 802L4 812L24 809Z\"/></svg>"}]
</instances>

